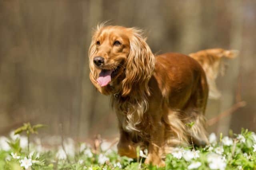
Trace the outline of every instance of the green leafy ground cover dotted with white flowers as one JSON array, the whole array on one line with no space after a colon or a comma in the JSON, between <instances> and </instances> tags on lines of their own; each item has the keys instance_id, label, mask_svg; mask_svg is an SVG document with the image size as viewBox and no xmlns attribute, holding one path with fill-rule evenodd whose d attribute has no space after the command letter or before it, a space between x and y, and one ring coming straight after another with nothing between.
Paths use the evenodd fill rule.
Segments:
<instances>
[{"instance_id":1,"label":"green leafy ground cover dotted with white flowers","mask_svg":"<svg viewBox=\"0 0 256 170\"><path fill-rule=\"evenodd\" d=\"M109 144L103 142L97 150L86 143L75 143L72 139L60 139L57 147L45 148L40 141L30 141L29 136L37 133L30 126L19 128L19 133L0 137L0 170L255 170L256 169L256 135L242 129L241 134L217 139L214 134L209 137L210 145L204 148L192 146L175 148L166 156L166 167L158 168L143 163L145 158L130 159L120 157L115 149L106 149ZM17 133L17 131L16 131ZM47 139L46 139L47 140ZM52 140L52 139L51 139ZM50 139L49 139L50 141ZM138 155L142 154L142 151ZM146 150L144 150L144 154ZM142 154L142 156L144 155Z\"/></svg>"}]
</instances>

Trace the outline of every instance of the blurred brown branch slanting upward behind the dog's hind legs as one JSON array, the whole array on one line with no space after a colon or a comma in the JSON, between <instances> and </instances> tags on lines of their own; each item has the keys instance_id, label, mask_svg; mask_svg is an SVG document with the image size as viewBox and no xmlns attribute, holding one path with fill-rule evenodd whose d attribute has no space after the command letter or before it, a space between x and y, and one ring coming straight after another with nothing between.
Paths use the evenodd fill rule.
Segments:
<instances>
[{"instance_id":1,"label":"blurred brown branch slanting upward behind the dog's hind legs","mask_svg":"<svg viewBox=\"0 0 256 170\"><path fill-rule=\"evenodd\" d=\"M246 106L246 102L241 101L241 102L237 102L236 104L234 104L232 107L230 107L228 110L220 113L218 116L210 119L207 121L207 124L209 126L214 125L215 123L217 123L218 121L220 121L220 119L222 119L223 117L226 117L228 115L231 115L234 111L236 111L237 109L239 109L240 107L244 107Z\"/></svg>"}]
</instances>

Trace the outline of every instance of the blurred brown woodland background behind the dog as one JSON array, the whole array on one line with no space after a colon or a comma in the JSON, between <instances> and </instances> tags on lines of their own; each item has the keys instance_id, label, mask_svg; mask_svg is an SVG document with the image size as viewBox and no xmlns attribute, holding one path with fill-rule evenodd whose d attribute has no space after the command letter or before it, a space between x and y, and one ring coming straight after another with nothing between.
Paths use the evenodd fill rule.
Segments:
<instances>
[{"instance_id":1,"label":"blurred brown woodland background behind the dog","mask_svg":"<svg viewBox=\"0 0 256 170\"><path fill-rule=\"evenodd\" d=\"M77 140L118 136L109 97L89 80L92 28L103 21L145 29L154 53L238 49L206 112L229 115L208 131L256 131L255 0L5 0L0 20L0 135L31 122L48 125L42 135L62 125Z\"/></svg>"}]
</instances>

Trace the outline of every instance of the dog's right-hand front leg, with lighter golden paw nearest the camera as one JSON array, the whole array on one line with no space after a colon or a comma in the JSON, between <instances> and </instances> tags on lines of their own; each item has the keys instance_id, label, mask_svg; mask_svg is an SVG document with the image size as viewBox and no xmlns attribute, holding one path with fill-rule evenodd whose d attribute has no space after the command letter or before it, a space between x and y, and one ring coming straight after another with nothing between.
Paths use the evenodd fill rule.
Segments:
<instances>
[{"instance_id":1,"label":"dog's right-hand front leg, with lighter golden paw nearest the camera","mask_svg":"<svg viewBox=\"0 0 256 170\"><path fill-rule=\"evenodd\" d=\"M165 166L165 162L162 160L162 155L164 154L164 124L158 123L155 127L154 131L150 134L148 157L146 158L145 163Z\"/></svg>"}]
</instances>

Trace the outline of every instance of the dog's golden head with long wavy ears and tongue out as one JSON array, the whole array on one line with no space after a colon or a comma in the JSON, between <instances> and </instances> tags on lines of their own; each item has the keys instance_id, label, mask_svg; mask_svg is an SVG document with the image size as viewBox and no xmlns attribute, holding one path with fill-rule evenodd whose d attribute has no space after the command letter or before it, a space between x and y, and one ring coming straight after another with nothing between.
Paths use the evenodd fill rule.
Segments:
<instances>
[{"instance_id":1,"label":"dog's golden head with long wavy ears and tongue out","mask_svg":"<svg viewBox=\"0 0 256 170\"><path fill-rule=\"evenodd\" d=\"M98 25L89 49L90 80L102 94L118 89L122 96L144 90L154 70L154 55L142 31ZM115 86L115 87L113 87Z\"/></svg>"}]
</instances>

